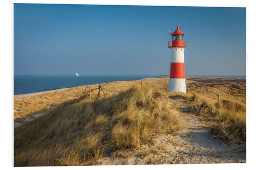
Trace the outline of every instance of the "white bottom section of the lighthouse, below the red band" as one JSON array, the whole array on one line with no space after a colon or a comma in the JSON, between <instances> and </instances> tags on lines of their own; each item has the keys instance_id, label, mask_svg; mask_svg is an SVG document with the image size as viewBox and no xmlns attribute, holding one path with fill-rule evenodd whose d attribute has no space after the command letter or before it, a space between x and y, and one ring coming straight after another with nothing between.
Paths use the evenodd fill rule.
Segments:
<instances>
[{"instance_id":1,"label":"white bottom section of the lighthouse, below the red band","mask_svg":"<svg viewBox=\"0 0 256 170\"><path fill-rule=\"evenodd\" d=\"M186 93L186 79L169 79L169 92Z\"/></svg>"}]
</instances>

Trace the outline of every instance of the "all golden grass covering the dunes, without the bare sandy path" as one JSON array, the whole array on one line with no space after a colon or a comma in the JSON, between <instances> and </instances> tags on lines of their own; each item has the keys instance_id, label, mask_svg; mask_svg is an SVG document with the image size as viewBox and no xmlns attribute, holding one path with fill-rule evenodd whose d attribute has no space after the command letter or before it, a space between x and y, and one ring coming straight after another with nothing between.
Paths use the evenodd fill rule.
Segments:
<instances>
[{"instance_id":1,"label":"all golden grass covering the dunes, without the bare sandy path","mask_svg":"<svg viewBox=\"0 0 256 170\"><path fill-rule=\"evenodd\" d=\"M14 129L14 166L97 164L102 156L135 150L157 134L183 129L169 98L184 101L214 137L246 142L245 80L191 77L186 80L189 93L183 94L167 93L168 78L143 79L104 83L107 98L99 100L98 90L88 99L84 88L89 85L15 99L14 122L22 125ZM216 94L221 94L220 103ZM38 112L46 114L26 120Z\"/></svg>"}]
</instances>

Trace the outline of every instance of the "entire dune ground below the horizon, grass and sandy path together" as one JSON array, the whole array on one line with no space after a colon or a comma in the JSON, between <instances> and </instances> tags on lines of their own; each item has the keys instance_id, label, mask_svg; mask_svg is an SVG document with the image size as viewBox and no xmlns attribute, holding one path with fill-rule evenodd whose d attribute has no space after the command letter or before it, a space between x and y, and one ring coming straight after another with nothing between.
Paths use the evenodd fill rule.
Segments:
<instances>
[{"instance_id":1,"label":"entire dune ground below the horizon, grass and sandy path together","mask_svg":"<svg viewBox=\"0 0 256 170\"><path fill-rule=\"evenodd\" d=\"M246 162L246 79L187 84L182 95L159 78L102 83L107 99L99 84L91 101L89 85L14 99L15 166Z\"/></svg>"}]
</instances>

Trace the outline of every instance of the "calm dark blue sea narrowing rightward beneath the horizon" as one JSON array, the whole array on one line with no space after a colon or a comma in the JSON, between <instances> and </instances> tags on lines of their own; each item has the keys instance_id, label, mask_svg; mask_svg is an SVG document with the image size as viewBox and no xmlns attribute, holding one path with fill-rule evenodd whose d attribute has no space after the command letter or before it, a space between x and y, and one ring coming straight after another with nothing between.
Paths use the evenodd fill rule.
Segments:
<instances>
[{"instance_id":1,"label":"calm dark blue sea narrowing rightward beneath the horizon","mask_svg":"<svg viewBox=\"0 0 256 170\"><path fill-rule=\"evenodd\" d=\"M113 81L132 81L152 76L14 76L14 95L57 88L76 87L87 84L108 83Z\"/></svg>"}]
</instances>

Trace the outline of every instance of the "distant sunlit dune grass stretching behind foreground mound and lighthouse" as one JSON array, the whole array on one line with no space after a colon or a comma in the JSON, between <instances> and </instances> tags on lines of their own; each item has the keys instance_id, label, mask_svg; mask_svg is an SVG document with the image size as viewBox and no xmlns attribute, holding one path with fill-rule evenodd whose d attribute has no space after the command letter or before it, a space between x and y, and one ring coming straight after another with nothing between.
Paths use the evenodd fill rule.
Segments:
<instances>
[{"instance_id":1,"label":"distant sunlit dune grass stretching behind foreground mound and lighthouse","mask_svg":"<svg viewBox=\"0 0 256 170\"><path fill-rule=\"evenodd\" d=\"M116 81L111 83L102 83L104 92L110 96L118 94L122 90L129 89L132 85L151 84L153 89L168 92L168 78L142 79L136 81ZM206 96L217 99L217 94L221 98L227 98L228 92L231 92L231 99L246 103L246 79L245 78L207 78L207 77L188 77L186 84L189 85L189 91L203 93ZM95 89L99 84L91 85ZM14 99L14 122L24 123L25 118L33 113L46 112L51 106L61 105L66 102L80 99L84 96L85 89L89 90L89 85L73 87L63 91L48 92L41 95L25 97L24 99ZM88 93L88 92L87 92ZM96 98L98 90L92 92L93 98ZM101 94L103 95L103 94Z\"/></svg>"}]
</instances>

